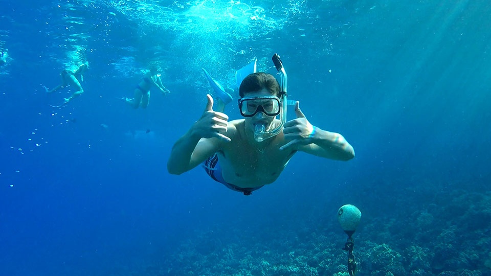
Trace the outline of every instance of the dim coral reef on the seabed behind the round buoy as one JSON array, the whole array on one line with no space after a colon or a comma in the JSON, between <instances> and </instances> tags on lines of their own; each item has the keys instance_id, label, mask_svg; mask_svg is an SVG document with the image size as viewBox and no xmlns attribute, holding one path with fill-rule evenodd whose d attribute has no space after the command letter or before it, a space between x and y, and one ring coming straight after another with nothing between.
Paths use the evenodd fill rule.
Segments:
<instances>
[{"instance_id":1,"label":"dim coral reef on the seabed behind the round buoy","mask_svg":"<svg viewBox=\"0 0 491 276\"><path fill-rule=\"evenodd\" d=\"M357 275L491 275L491 193L436 192L428 201L418 196L394 199L404 209L391 212L366 204L369 215L354 235ZM338 225L319 228L318 221L262 225L260 238L227 235L243 232L235 225L200 231L151 274L348 275L346 236Z\"/></svg>"}]
</instances>

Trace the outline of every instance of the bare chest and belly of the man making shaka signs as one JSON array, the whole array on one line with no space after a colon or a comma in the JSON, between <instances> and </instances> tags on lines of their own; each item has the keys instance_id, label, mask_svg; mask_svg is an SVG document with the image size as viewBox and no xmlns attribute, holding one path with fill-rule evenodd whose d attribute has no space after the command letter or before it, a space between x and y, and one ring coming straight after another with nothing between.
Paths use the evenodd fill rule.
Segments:
<instances>
[{"instance_id":1,"label":"bare chest and belly of the man making shaka signs","mask_svg":"<svg viewBox=\"0 0 491 276\"><path fill-rule=\"evenodd\" d=\"M253 137L245 133L244 120L229 122L235 131L231 141L218 152L225 181L242 188L253 188L273 183L295 151L279 148L286 144L283 133L260 144L252 144Z\"/></svg>"}]
</instances>

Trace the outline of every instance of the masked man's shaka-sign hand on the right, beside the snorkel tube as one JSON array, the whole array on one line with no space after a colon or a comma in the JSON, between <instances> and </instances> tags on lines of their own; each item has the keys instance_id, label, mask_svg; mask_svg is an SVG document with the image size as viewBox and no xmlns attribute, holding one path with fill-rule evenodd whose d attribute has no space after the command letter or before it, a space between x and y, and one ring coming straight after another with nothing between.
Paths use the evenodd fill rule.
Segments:
<instances>
[{"instance_id":1,"label":"masked man's shaka-sign hand on the right, beside the snorkel tube","mask_svg":"<svg viewBox=\"0 0 491 276\"><path fill-rule=\"evenodd\" d=\"M299 102L295 103L295 113L297 119L288 121L283 126L283 133L285 134L285 140L288 141L285 145L280 147L280 150L295 148L296 146L305 146L313 142L316 127L311 125L302 110L300 110Z\"/></svg>"}]
</instances>

